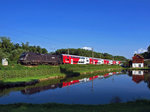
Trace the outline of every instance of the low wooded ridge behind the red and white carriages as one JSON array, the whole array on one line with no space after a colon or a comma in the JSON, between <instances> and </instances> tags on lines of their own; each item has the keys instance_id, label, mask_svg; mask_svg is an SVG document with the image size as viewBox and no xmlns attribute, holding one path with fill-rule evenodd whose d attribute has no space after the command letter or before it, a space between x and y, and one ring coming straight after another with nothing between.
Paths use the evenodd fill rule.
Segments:
<instances>
[{"instance_id":1,"label":"low wooded ridge behind the red and white carriages","mask_svg":"<svg viewBox=\"0 0 150 112\"><path fill-rule=\"evenodd\" d=\"M54 54L68 54L68 49L58 49ZM92 57L92 51L85 50L85 49L69 49L69 54L71 55L79 55L79 56L86 56L86 57ZM115 59L120 61L126 61L127 59L123 56L113 56L108 53L99 53L94 52L95 58L103 58L103 59Z\"/></svg>"}]
</instances>

